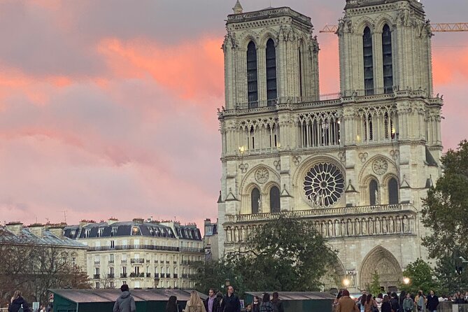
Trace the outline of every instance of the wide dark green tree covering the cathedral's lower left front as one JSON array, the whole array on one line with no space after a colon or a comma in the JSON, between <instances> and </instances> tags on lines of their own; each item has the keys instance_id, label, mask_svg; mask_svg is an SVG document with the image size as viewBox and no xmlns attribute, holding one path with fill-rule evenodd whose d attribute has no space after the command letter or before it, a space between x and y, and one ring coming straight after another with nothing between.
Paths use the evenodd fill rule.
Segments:
<instances>
[{"instance_id":1,"label":"wide dark green tree covering the cathedral's lower left front","mask_svg":"<svg viewBox=\"0 0 468 312\"><path fill-rule=\"evenodd\" d=\"M240 293L313 291L320 289L320 278L334 262L336 252L311 222L283 214L258 227L244 246L224 260L199 267L194 278L197 290L203 292L224 285L226 278Z\"/></svg>"}]
</instances>

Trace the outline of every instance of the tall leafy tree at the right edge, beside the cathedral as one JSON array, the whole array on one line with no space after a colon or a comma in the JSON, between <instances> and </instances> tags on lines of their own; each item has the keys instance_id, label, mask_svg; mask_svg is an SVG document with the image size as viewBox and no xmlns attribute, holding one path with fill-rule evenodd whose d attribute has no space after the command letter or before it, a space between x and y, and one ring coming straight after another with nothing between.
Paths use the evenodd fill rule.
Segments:
<instances>
[{"instance_id":1,"label":"tall leafy tree at the right edge, beside the cathedral","mask_svg":"<svg viewBox=\"0 0 468 312\"><path fill-rule=\"evenodd\" d=\"M463 260L468 260L468 141L462 141L457 150L448 150L441 162L444 176L423 199L423 224L432 229L423 245L438 264L451 262L458 274L458 287L467 287L468 268ZM437 271L446 271L446 267Z\"/></svg>"}]
</instances>

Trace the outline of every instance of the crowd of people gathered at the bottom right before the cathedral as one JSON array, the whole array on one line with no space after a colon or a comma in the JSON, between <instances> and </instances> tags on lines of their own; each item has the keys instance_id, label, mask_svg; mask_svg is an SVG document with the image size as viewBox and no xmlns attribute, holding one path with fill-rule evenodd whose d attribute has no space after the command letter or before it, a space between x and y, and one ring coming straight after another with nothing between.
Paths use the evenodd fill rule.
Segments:
<instances>
[{"instance_id":1,"label":"crowd of people gathered at the bottom right before the cathedral","mask_svg":"<svg viewBox=\"0 0 468 312\"><path fill-rule=\"evenodd\" d=\"M438 297L433 290L425 295L423 290L417 294L406 293L404 290L380 293L373 296L365 291L357 300L350 297L348 290L341 290L334 301L335 312L413 312L437 311L440 302L452 301L454 304L468 304L468 292L457 292L453 296Z\"/></svg>"}]
</instances>

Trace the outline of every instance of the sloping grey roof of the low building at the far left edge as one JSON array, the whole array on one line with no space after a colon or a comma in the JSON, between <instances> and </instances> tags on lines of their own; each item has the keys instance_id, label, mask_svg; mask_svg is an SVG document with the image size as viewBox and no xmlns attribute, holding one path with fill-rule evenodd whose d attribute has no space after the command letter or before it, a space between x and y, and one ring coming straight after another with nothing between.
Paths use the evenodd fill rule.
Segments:
<instances>
[{"instance_id":1,"label":"sloping grey roof of the low building at the far left edge","mask_svg":"<svg viewBox=\"0 0 468 312\"><path fill-rule=\"evenodd\" d=\"M42 236L36 236L27 227L23 227L20 230L20 234L14 234L6 227L0 227L0 244L14 244L14 245L38 245L38 246L58 246L66 248L87 248L82 243L78 243L74 239L64 236L60 238L50 232L48 229L44 229Z\"/></svg>"}]
</instances>

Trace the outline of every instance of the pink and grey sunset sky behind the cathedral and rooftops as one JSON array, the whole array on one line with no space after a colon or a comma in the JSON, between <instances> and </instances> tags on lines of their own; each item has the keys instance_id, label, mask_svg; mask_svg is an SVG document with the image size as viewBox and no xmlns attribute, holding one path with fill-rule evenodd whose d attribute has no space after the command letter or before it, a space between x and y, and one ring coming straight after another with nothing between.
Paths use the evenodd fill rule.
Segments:
<instances>
[{"instance_id":1,"label":"pink and grey sunset sky behind the cathedral and rooftops","mask_svg":"<svg viewBox=\"0 0 468 312\"><path fill-rule=\"evenodd\" d=\"M0 2L0 222L217 217L220 46L235 0ZM269 0L241 0L244 11ZM466 0L423 0L468 22ZM271 0L309 15L320 93L339 92L344 0ZM468 32L436 33L444 148L467 138ZM463 95L465 94L465 96Z\"/></svg>"}]
</instances>

